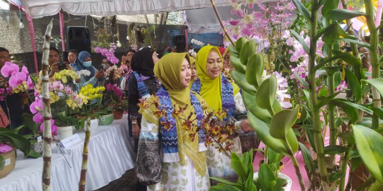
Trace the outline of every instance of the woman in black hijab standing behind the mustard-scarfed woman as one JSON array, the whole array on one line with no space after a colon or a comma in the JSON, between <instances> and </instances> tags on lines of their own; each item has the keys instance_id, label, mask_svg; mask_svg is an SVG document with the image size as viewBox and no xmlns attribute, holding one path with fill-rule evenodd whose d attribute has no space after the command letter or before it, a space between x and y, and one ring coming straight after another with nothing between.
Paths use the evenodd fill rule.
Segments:
<instances>
[{"instance_id":1,"label":"woman in black hijab standing behind the mustard-scarfed woman","mask_svg":"<svg viewBox=\"0 0 383 191\"><path fill-rule=\"evenodd\" d=\"M153 92L157 92L161 87L161 83L154 75L154 64L158 61L157 52L150 48L142 48L138 52L134 53L131 67L133 72L129 76L128 83L128 124L129 133L134 137L135 152L138 149L138 138L141 125L141 114L138 113L139 99L146 99L152 95ZM137 183L136 190L146 190L146 186Z\"/></svg>"}]
</instances>

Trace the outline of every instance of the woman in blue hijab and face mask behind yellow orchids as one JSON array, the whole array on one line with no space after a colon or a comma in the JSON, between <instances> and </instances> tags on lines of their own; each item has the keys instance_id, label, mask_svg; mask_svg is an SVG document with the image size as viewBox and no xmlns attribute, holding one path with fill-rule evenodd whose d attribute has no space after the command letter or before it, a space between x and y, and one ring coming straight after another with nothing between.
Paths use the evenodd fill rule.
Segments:
<instances>
[{"instance_id":1,"label":"woman in blue hijab and face mask behind yellow orchids","mask_svg":"<svg viewBox=\"0 0 383 191\"><path fill-rule=\"evenodd\" d=\"M92 57L87 51L81 51L79 53L79 56L73 64L73 68L76 72L80 70L87 70L90 72L90 75L80 75L81 81L80 83L77 83L79 89L87 84L91 84L93 87L97 87L99 86L99 81L105 80L104 70L98 71L96 68L94 68L94 66L92 66Z\"/></svg>"}]
</instances>

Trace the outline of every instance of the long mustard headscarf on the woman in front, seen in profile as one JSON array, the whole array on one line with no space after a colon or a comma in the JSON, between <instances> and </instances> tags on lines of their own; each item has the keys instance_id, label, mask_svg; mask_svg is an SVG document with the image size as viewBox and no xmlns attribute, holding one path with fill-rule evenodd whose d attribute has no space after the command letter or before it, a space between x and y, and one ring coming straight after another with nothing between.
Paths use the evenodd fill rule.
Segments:
<instances>
[{"instance_id":1,"label":"long mustard headscarf on the woman in front, seen in profile","mask_svg":"<svg viewBox=\"0 0 383 191\"><path fill-rule=\"evenodd\" d=\"M184 111L184 114L188 116L190 113L195 114L194 107L190 102L190 90L189 88L184 88L180 83L181 75L181 66L183 60L189 62L189 56L187 53L167 53L163 56L154 66L154 74L161 81L162 85L167 89L167 92L170 95L170 99L174 104L179 106L188 107ZM149 98L149 101L153 99L153 96ZM200 100L201 102L201 100ZM154 105L152 105L154 107ZM177 107L174 107L176 110ZM140 110L145 119L149 120L154 124L158 124L159 120L153 117L151 111L154 111L154 108L148 108L145 112ZM185 119L186 117L184 117ZM192 119L195 119L196 116L193 115ZM154 120L155 119L155 120ZM177 123L177 141L178 141L178 154L180 156L180 163L182 166L186 165L184 160L184 155L188 156L194 162L194 167L201 176L206 174L206 153L198 152L199 143L198 143L198 133L196 133L195 141L189 139L190 131L185 131L182 128L182 119L176 118ZM194 121L197 124L197 121Z\"/></svg>"}]
</instances>

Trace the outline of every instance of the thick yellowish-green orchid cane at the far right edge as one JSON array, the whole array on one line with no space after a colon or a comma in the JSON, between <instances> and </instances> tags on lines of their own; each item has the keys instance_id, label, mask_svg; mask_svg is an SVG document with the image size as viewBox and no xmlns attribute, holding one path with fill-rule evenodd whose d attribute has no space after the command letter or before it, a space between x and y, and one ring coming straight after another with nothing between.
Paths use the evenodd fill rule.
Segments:
<instances>
[{"instance_id":1,"label":"thick yellowish-green orchid cane at the far right edge","mask_svg":"<svg viewBox=\"0 0 383 191\"><path fill-rule=\"evenodd\" d=\"M375 9L372 5L371 0L365 0L365 6L366 6L366 21L368 30L370 31L370 59L371 59L371 66L372 66L372 75L371 78L379 78L380 75L380 68L378 63L378 29L376 29L375 26ZM374 103L374 107L380 108L381 102L380 102L380 94L376 90L375 87L371 87L372 91L372 99ZM377 129L379 128L379 116L374 112L372 115L372 128Z\"/></svg>"}]
</instances>

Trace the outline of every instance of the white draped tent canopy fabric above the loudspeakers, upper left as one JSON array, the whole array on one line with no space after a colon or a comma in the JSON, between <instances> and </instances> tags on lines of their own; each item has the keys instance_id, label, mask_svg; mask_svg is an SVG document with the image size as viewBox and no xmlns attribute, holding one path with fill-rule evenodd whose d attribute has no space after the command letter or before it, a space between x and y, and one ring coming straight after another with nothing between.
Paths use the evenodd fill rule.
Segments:
<instances>
[{"instance_id":1,"label":"white draped tent canopy fabric above the loudspeakers, upper left","mask_svg":"<svg viewBox=\"0 0 383 191\"><path fill-rule=\"evenodd\" d=\"M60 9L73 15L136 15L211 7L210 0L9 0L20 5L32 18L56 15ZM230 0L215 0L217 7Z\"/></svg>"}]
</instances>

